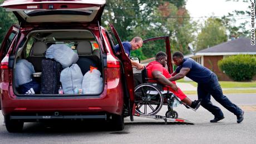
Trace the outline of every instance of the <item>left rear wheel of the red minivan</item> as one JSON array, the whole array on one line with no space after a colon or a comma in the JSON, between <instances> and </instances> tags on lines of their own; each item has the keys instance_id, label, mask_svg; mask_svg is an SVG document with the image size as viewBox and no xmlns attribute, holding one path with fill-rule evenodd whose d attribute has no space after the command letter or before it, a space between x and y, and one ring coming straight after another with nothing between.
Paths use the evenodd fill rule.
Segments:
<instances>
[{"instance_id":1,"label":"left rear wheel of the red minivan","mask_svg":"<svg viewBox=\"0 0 256 144\"><path fill-rule=\"evenodd\" d=\"M24 122L19 120L11 120L10 116L4 116L4 121L6 123L6 130L8 132L21 132L23 129Z\"/></svg>"}]
</instances>

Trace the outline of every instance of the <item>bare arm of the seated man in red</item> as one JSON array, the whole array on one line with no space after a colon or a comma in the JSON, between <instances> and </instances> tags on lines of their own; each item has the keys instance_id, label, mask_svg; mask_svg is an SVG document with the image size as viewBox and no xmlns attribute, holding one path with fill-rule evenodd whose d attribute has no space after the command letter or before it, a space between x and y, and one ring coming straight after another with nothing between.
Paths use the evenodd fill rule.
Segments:
<instances>
[{"instance_id":1,"label":"bare arm of the seated man in red","mask_svg":"<svg viewBox=\"0 0 256 144\"><path fill-rule=\"evenodd\" d=\"M170 82L160 71L153 71L152 76L162 85L170 86L174 91L179 91L179 88L174 85L174 83Z\"/></svg>"}]
</instances>

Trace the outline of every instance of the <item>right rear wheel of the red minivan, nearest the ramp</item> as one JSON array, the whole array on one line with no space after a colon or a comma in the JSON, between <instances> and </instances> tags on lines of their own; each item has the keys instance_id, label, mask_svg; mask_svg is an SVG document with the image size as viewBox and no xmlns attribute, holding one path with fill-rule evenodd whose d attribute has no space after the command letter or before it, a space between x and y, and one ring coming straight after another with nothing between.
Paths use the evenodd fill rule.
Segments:
<instances>
[{"instance_id":1,"label":"right rear wheel of the red minivan, nearest the ramp","mask_svg":"<svg viewBox=\"0 0 256 144\"><path fill-rule=\"evenodd\" d=\"M112 115L111 130L122 131L124 130L124 127L125 127L124 116Z\"/></svg>"}]
</instances>

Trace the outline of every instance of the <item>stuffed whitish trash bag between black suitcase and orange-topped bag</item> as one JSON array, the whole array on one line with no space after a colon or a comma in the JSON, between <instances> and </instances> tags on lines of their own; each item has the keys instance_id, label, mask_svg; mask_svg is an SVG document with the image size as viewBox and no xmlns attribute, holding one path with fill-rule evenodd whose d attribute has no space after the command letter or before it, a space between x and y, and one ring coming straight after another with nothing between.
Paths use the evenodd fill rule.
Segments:
<instances>
[{"instance_id":1,"label":"stuffed whitish trash bag between black suitcase and orange-topped bag","mask_svg":"<svg viewBox=\"0 0 256 144\"><path fill-rule=\"evenodd\" d=\"M65 94L77 94L74 90L82 89L83 74L77 64L67 67L61 71L61 85Z\"/></svg>"}]
</instances>

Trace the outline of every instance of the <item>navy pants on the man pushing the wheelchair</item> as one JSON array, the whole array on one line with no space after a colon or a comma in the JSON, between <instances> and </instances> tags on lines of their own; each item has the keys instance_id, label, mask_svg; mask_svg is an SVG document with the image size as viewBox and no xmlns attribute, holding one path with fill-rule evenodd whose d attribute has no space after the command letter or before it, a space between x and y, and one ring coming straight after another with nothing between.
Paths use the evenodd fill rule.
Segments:
<instances>
[{"instance_id":1,"label":"navy pants on the man pushing the wheelchair","mask_svg":"<svg viewBox=\"0 0 256 144\"><path fill-rule=\"evenodd\" d=\"M213 113L215 117L223 117L224 115L220 108L211 103L211 96L213 96L213 98L223 107L227 108L227 110L234 113L234 115L242 114L241 108L232 103L228 97L223 95L218 77L215 75L215 73L211 74L210 82L198 83L198 99L202 99L201 106Z\"/></svg>"}]
</instances>

